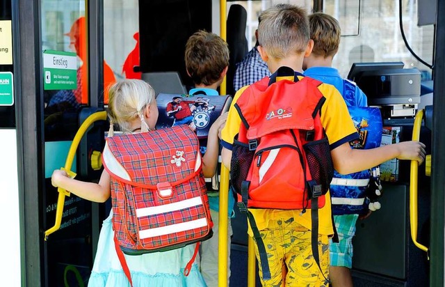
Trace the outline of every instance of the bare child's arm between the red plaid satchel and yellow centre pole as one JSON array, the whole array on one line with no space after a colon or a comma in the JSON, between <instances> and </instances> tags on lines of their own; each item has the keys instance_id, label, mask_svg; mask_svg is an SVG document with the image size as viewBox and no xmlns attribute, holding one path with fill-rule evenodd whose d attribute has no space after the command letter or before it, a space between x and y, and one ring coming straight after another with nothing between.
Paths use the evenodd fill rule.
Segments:
<instances>
[{"instance_id":1,"label":"bare child's arm between the red plaid satchel and yellow centre pole","mask_svg":"<svg viewBox=\"0 0 445 287\"><path fill-rule=\"evenodd\" d=\"M219 137L226 120L227 113L224 113L216 119L215 123L213 123L209 129L207 150L204 157L202 157L202 171L206 178L211 178L215 175L216 166L218 165Z\"/></svg>"}]
</instances>

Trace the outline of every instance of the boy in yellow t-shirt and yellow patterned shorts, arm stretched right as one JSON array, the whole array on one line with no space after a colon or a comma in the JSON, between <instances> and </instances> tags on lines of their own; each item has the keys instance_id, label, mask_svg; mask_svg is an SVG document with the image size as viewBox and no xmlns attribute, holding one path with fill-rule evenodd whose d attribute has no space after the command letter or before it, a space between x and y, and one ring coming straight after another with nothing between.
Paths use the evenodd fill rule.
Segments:
<instances>
[{"instance_id":1,"label":"boy in yellow t-shirt and yellow patterned shorts, arm stretched right","mask_svg":"<svg viewBox=\"0 0 445 287\"><path fill-rule=\"evenodd\" d=\"M302 62L305 56L309 56L314 46L314 42L310 39L309 22L304 9L289 4L279 4L265 10L261 14L258 38L259 53L268 64L270 72L275 73L280 67L289 67L295 71L295 75L279 76L277 81L282 79L300 81L304 78ZM339 173L348 174L369 169L394 157L401 160L417 160L419 164L423 162L425 146L418 141L407 141L370 150L351 149L349 141L357 138L358 134L343 98L334 86L328 84L320 84L318 91L324 97L321 107L321 124L329 140L334 168ZM246 95L254 93L254 89L245 86L236 93L227 123L221 134L223 164L228 169L230 169L234 137L243 131L240 130L241 117L235 105L243 93ZM280 191L271 190L270 192ZM318 210L319 222L316 236L318 237L319 262L314 260L312 254L311 212L266 208L249 208L249 211L254 217L267 253L268 262L261 262L259 242L255 241L263 286L284 286L285 284L285 286L294 287L329 284L327 280L328 238L334 232L329 192L325 196L324 207ZM248 233L252 236L251 228ZM263 278L264 264L269 267L270 279Z\"/></svg>"}]
</instances>

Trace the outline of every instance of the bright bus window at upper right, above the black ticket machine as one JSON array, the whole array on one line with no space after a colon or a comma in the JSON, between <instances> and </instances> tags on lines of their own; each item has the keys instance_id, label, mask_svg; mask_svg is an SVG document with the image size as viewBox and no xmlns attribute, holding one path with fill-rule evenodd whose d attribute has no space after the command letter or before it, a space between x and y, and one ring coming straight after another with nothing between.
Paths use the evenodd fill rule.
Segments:
<instances>
[{"instance_id":1,"label":"bright bus window at upper right, above the black ticket machine","mask_svg":"<svg viewBox=\"0 0 445 287\"><path fill-rule=\"evenodd\" d=\"M417 26L416 1L401 2L406 40L423 61L431 64L434 27ZM333 63L340 75L346 77L353 63L402 61L405 68L418 68L423 79L430 79L430 68L418 61L403 42L398 3L389 0L366 1L365 5L364 1L359 0L324 1L323 12L337 18L341 25L340 48ZM359 33L355 33L355 30Z\"/></svg>"}]
</instances>

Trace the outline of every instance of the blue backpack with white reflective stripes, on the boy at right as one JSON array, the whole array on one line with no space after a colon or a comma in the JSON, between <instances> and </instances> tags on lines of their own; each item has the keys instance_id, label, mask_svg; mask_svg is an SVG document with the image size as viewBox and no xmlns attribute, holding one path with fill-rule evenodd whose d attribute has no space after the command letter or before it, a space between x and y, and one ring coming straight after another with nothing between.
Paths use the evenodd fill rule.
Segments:
<instances>
[{"instance_id":1,"label":"blue backpack with white reflective stripes, on the boy at right","mask_svg":"<svg viewBox=\"0 0 445 287\"><path fill-rule=\"evenodd\" d=\"M359 133L359 139L351 141L350 146L359 149L380 146L382 141L380 110L375 107L357 107L355 85L348 80L343 80L343 98ZM374 205L379 207L377 199L381 189L378 166L348 175L334 171L330 187L332 213L334 215L362 214L369 209L373 210Z\"/></svg>"}]
</instances>

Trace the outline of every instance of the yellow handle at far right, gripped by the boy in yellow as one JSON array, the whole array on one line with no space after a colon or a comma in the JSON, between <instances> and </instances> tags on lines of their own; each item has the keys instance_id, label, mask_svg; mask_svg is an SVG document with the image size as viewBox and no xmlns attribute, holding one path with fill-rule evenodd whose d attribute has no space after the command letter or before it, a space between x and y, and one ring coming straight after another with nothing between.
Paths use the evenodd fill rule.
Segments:
<instances>
[{"instance_id":1,"label":"yellow handle at far right, gripped by the boy in yellow","mask_svg":"<svg viewBox=\"0 0 445 287\"><path fill-rule=\"evenodd\" d=\"M414 118L414 127L412 129L412 140L419 141L420 138L420 128L422 124L424 111L419 110ZM417 242L417 180L418 180L419 162L416 160L411 161L411 173L410 173L410 224L411 224L411 238L412 242L416 247L427 252L428 247L421 245ZM429 256L428 256L429 260Z\"/></svg>"}]
</instances>

